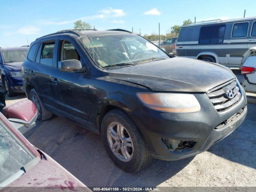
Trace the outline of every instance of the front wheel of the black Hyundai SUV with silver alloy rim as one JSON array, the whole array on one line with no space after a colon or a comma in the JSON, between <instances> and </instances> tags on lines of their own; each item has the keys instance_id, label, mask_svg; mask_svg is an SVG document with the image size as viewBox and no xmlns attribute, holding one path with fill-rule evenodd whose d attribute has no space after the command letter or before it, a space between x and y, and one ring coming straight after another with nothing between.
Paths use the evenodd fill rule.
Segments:
<instances>
[{"instance_id":1,"label":"front wheel of the black Hyundai SUV with silver alloy rim","mask_svg":"<svg viewBox=\"0 0 256 192\"><path fill-rule=\"evenodd\" d=\"M123 126L123 132L121 131L123 134L121 132L118 134L118 125L120 126L120 130ZM112 126L113 128L111 129ZM115 131L115 134L112 134L115 139L110 136L110 130ZM121 136L118 137L118 135ZM137 172L146 167L152 160L146 141L138 126L121 110L111 110L104 116L101 125L101 137L104 148L111 160L116 166L126 172ZM116 138L117 140L119 139L119 142ZM118 145L116 146L116 143L118 143L120 147ZM120 149L118 150L118 148ZM114 150L118 150L118 152L115 153ZM127 154L127 152L128 154L123 155L124 151L126 151L125 154ZM126 159L122 158L122 156L126 156Z\"/></svg>"}]
</instances>

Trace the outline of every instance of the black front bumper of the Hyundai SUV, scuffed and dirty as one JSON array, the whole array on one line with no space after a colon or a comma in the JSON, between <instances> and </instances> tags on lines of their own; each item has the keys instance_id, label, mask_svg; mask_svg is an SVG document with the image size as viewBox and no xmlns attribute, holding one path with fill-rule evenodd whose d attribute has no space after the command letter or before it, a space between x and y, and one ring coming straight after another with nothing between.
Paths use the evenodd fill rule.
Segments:
<instances>
[{"instance_id":1,"label":"black front bumper of the Hyundai SUV, scuffed and dirty","mask_svg":"<svg viewBox=\"0 0 256 192\"><path fill-rule=\"evenodd\" d=\"M153 157L161 160L178 160L204 152L212 144L232 133L246 118L246 99L226 113L218 113L206 94L195 94L201 110L194 113L166 113L143 107L132 114L132 118L142 131ZM236 113L241 114L222 128L216 129ZM192 141L192 148L170 150L162 138Z\"/></svg>"}]
</instances>

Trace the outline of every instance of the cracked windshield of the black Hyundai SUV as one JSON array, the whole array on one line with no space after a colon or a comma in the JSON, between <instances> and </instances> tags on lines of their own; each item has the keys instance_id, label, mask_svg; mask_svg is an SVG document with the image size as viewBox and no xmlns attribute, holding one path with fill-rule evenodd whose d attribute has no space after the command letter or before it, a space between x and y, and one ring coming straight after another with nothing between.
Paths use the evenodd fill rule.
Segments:
<instances>
[{"instance_id":1,"label":"cracked windshield of the black Hyundai SUV","mask_svg":"<svg viewBox=\"0 0 256 192\"><path fill-rule=\"evenodd\" d=\"M82 36L80 42L100 67L170 58L154 44L132 34Z\"/></svg>"}]
</instances>

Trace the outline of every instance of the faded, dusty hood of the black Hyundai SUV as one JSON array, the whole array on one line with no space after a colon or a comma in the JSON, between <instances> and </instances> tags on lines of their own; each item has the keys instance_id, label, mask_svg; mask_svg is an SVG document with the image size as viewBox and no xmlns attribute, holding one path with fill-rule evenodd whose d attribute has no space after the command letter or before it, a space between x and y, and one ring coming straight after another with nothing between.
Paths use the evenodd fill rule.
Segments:
<instances>
[{"instance_id":1,"label":"faded, dusty hood of the black Hyundai SUV","mask_svg":"<svg viewBox=\"0 0 256 192\"><path fill-rule=\"evenodd\" d=\"M108 69L108 78L146 86L152 91L207 92L236 78L220 64L174 57L136 66Z\"/></svg>"}]
</instances>

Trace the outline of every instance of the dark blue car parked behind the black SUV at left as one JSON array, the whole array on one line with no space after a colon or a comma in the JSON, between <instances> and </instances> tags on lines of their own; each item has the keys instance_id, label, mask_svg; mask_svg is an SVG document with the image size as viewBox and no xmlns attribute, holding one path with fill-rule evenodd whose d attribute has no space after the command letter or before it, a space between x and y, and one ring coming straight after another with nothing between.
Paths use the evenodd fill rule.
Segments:
<instances>
[{"instance_id":1,"label":"dark blue car parked behind the black SUV at left","mask_svg":"<svg viewBox=\"0 0 256 192\"><path fill-rule=\"evenodd\" d=\"M24 92L21 66L26 59L29 47L0 48L0 84L12 97L16 93Z\"/></svg>"}]
</instances>

